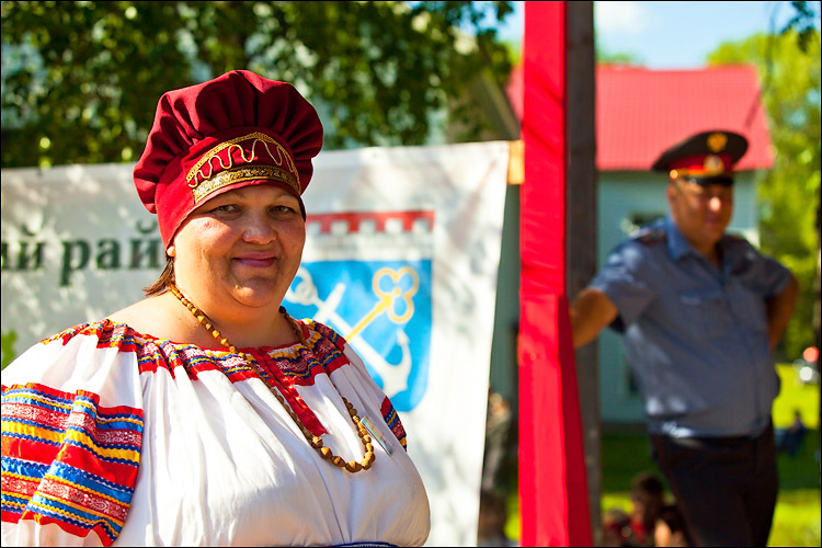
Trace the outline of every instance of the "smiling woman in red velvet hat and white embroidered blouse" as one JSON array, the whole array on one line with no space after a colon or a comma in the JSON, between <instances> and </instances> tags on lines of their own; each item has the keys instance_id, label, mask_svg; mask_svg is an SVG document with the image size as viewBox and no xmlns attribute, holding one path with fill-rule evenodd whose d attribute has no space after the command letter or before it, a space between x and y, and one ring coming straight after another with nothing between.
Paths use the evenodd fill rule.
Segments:
<instances>
[{"instance_id":1,"label":"smiling woman in red velvet hat and white embroidered blouse","mask_svg":"<svg viewBox=\"0 0 822 548\"><path fill-rule=\"evenodd\" d=\"M169 91L134 170L168 264L147 298L2 375L2 544L422 545L422 480L346 341L281 302L322 146L285 82Z\"/></svg>"}]
</instances>

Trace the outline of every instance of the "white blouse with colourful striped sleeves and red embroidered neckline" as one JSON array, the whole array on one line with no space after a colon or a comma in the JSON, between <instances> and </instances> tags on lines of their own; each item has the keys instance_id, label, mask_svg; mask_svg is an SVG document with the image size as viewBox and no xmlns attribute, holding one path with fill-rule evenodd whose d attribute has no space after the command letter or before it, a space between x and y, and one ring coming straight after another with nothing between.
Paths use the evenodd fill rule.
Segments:
<instances>
[{"instance_id":1,"label":"white blouse with colourful striped sleeves and red embroidered neckline","mask_svg":"<svg viewBox=\"0 0 822 548\"><path fill-rule=\"evenodd\" d=\"M359 461L344 396L380 438L368 470L323 460L241 356L102 320L2 373L3 546L422 545L429 502L396 410L342 336L300 326L305 345L242 350Z\"/></svg>"}]
</instances>

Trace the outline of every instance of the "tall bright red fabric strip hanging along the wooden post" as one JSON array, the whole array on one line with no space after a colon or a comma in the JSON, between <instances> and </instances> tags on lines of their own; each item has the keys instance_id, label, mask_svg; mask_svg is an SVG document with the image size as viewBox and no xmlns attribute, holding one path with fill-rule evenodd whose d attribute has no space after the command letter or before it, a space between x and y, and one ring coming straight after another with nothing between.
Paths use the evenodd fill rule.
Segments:
<instances>
[{"instance_id":1,"label":"tall bright red fabric strip hanging along the wooden post","mask_svg":"<svg viewBox=\"0 0 822 548\"><path fill-rule=\"evenodd\" d=\"M591 546L566 294L566 2L525 2L521 189L521 546Z\"/></svg>"}]
</instances>

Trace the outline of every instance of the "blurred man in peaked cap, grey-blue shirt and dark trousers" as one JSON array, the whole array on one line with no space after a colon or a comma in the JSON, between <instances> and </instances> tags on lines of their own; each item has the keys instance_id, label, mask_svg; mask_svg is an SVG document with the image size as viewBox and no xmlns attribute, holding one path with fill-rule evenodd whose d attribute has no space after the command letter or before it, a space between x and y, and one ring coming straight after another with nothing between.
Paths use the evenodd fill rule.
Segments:
<instances>
[{"instance_id":1,"label":"blurred man in peaked cap, grey-blue shirt and dark trousers","mask_svg":"<svg viewBox=\"0 0 822 548\"><path fill-rule=\"evenodd\" d=\"M669 215L617 246L570 312L574 346L623 333L654 459L700 546L765 546L778 489L772 351L798 285L726 233L746 149L710 130L663 151Z\"/></svg>"}]
</instances>

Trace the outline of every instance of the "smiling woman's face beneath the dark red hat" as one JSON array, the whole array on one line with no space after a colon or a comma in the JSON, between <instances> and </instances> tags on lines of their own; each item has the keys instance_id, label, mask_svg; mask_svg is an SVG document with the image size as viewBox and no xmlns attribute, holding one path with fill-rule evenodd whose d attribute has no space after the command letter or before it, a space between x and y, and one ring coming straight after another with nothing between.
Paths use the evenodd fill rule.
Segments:
<instances>
[{"instance_id":1,"label":"smiling woman's face beneath the dark red hat","mask_svg":"<svg viewBox=\"0 0 822 548\"><path fill-rule=\"evenodd\" d=\"M168 249L180 288L199 306L278 306L297 274L306 224L299 201L270 185L216 196L183 222Z\"/></svg>"}]
</instances>

